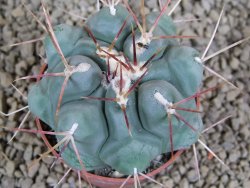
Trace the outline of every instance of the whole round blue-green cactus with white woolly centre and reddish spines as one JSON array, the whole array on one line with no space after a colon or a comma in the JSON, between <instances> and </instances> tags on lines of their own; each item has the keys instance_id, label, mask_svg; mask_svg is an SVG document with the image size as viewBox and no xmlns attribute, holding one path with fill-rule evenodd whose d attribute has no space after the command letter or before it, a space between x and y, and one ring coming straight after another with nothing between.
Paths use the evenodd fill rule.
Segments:
<instances>
[{"instance_id":1,"label":"whole round blue-green cactus with white woolly centre and reddish spines","mask_svg":"<svg viewBox=\"0 0 250 188\"><path fill-rule=\"evenodd\" d=\"M28 103L55 132L74 128L87 171L110 166L130 175L197 141L203 124L195 93L203 67L199 53L175 39L169 16L150 13L142 28L129 7L115 10L102 8L84 28L54 27L65 59L47 36L48 68ZM71 143L59 150L71 168L82 169Z\"/></svg>"}]
</instances>

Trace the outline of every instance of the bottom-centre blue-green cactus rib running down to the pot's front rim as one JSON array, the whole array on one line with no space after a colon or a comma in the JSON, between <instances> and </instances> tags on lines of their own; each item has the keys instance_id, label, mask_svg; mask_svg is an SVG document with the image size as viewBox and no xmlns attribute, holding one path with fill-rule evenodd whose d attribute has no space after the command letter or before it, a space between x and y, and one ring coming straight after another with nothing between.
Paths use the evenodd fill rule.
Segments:
<instances>
[{"instance_id":1,"label":"bottom-centre blue-green cactus rib running down to the pot's front rim","mask_svg":"<svg viewBox=\"0 0 250 188\"><path fill-rule=\"evenodd\" d=\"M109 88L106 97L114 96L114 91ZM116 103L105 104L105 113L109 117L107 122L112 134L109 135L100 155L107 164L125 174L130 174L134 167L139 171L145 170L149 162L161 152L162 141L142 127L137 103L135 93L131 93L126 111L132 137L129 135L120 106ZM148 139L145 140L145 137Z\"/></svg>"}]
</instances>

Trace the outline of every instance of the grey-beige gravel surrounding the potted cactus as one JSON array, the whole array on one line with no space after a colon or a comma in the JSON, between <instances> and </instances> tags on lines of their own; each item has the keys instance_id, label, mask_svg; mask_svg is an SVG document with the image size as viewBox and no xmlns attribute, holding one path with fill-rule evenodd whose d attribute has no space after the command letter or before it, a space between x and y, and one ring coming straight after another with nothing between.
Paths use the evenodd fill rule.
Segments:
<instances>
[{"instance_id":1,"label":"grey-beige gravel surrounding the potted cactus","mask_svg":"<svg viewBox=\"0 0 250 188\"><path fill-rule=\"evenodd\" d=\"M137 1L137 0L136 0ZM173 0L176 2L177 0ZM26 0L26 5L42 18L39 0ZM53 3L51 3L53 2ZM70 2L70 3L69 3ZM145 0L147 11L157 10L156 0ZM135 8L139 1L135 3ZM183 0L173 14L175 20L200 18L198 22L178 24L179 33L198 35L198 40L184 40L201 52L206 48L209 37L215 27L223 3L226 12L221 21L215 41L209 53L215 52L233 42L250 36L250 1L249 0ZM83 25L79 18L65 14L62 9L87 17L95 11L94 0L55 0L48 3L53 24L68 23ZM61 8L62 9L61 9ZM43 49L41 42L18 47L6 47L20 41L39 38L43 34L41 27L21 5L20 0L0 0L0 111L11 112L25 106L25 100L10 86L19 77L35 74L39 70ZM213 58L206 65L232 80L240 90L231 86L203 97L204 123L206 126L232 115L230 120L211 129L204 135L204 140L214 152L229 166L230 170L216 159L209 159L208 153L197 144L200 161L201 180L197 181L194 170L192 149L188 150L169 169L157 179L169 187L250 187L250 42L244 43L222 55ZM211 87L220 80L205 73L204 88ZM16 86L27 95L30 82L20 81ZM0 116L0 125L17 127L25 113L4 118ZM24 124L25 128L34 128L33 118ZM63 176L66 168L60 164L49 169L52 159L46 158L33 168L27 166L32 159L45 151L39 136L18 134L13 142L7 144L12 134L0 129L0 187L1 188L43 188L51 187ZM164 175L165 174L165 175ZM70 174L61 187L76 187L77 177ZM86 184L85 184L86 185ZM145 187L157 187L146 184Z\"/></svg>"}]
</instances>

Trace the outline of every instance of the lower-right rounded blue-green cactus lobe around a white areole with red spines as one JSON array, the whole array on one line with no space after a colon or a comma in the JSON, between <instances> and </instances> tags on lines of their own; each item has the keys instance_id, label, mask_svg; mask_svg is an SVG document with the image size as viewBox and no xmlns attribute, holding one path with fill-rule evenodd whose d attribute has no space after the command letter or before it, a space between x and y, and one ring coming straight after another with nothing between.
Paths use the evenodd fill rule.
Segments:
<instances>
[{"instance_id":1,"label":"lower-right rounded blue-green cactus lobe around a white areole with red spines","mask_svg":"<svg viewBox=\"0 0 250 188\"><path fill-rule=\"evenodd\" d=\"M154 94L156 92L160 92L172 103L178 102L184 97L172 84L164 80L148 81L139 87L138 109L143 127L147 131L157 135L158 138L164 140L162 153L165 153L171 151L169 125L166 121L166 110L164 106L155 100ZM195 109L195 102L192 100L180 105L180 107ZM197 130L197 132L202 130L200 115L186 112L183 113L181 111L179 113ZM175 150L187 148L197 140L198 135L174 115L171 116L174 148Z\"/></svg>"}]
</instances>

